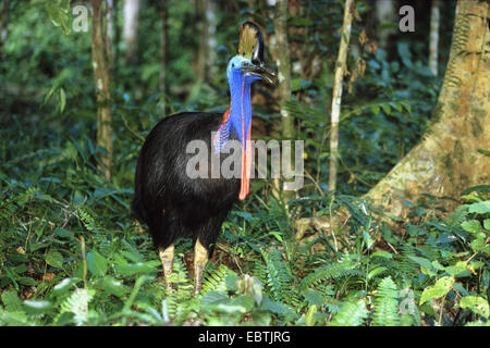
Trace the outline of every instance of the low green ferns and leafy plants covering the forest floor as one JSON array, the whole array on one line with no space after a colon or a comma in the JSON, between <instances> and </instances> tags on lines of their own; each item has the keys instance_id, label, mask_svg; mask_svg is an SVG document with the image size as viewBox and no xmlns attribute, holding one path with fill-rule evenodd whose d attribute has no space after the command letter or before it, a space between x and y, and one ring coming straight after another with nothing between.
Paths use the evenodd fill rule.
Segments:
<instances>
[{"instance_id":1,"label":"low green ferns and leafy plants covering the forest floor","mask_svg":"<svg viewBox=\"0 0 490 348\"><path fill-rule=\"evenodd\" d=\"M223 225L194 297L191 241L177 244L176 289L167 290L148 234L126 213L127 189L69 201L54 198L62 183L0 179L2 325L488 324L488 187L449 215L406 202L403 233L376 221L367 202L338 196L334 209L350 217L336 252L332 235L296 240L279 202L252 199Z\"/></svg>"}]
</instances>

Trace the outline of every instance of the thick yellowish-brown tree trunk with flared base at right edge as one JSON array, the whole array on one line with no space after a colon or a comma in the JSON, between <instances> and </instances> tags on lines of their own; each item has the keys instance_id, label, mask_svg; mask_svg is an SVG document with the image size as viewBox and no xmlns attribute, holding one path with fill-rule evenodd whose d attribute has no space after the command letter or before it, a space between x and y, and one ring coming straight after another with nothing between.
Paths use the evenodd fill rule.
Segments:
<instances>
[{"instance_id":1,"label":"thick yellowish-brown tree trunk with flared base at right edge","mask_svg":"<svg viewBox=\"0 0 490 348\"><path fill-rule=\"evenodd\" d=\"M367 195L392 214L422 194L458 198L490 182L490 5L458 0L450 59L424 139ZM479 150L480 149L480 150ZM453 209L452 200L442 203Z\"/></svg>"}]
</instances>

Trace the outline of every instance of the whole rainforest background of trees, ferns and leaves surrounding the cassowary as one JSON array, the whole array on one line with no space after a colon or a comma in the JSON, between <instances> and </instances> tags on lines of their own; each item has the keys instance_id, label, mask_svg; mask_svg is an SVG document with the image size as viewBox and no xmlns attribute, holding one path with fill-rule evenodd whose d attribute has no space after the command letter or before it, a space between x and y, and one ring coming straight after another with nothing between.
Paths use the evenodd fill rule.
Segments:
<instances>
[{"instance_id":1,"label":"whole rainforest background of trees, ferns and leaves surrounding the cassowary","mask_svg":"<svg viewBox=\"0 0 490 348\"><path fill-rule=\"evenodd\" d=\"M304 185L252 179L194 296L192 239L168 289L131 210L136 162L160 120L228 110L244 21L278 76L252 138L303 140ZM0 325L489 325L489 23L485 0L1 0Z\"/></svg>"}]
</instances>

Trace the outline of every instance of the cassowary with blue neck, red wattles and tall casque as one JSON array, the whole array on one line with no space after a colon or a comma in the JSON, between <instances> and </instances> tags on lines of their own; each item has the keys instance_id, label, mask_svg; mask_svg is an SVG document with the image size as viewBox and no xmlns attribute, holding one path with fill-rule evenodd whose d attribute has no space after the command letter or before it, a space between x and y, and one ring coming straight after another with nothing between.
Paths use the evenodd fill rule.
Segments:
<instances>
[{"instance_id":1,"label":"cassowary with blue neck, red wattles and tall casque","mask_svg":"<svg viewBox=\"0 0 490 348\"><path fill-rule=\"evenodd\" d=\"M148 134L139 153L135 174L133 211L148 225L159 249L167 287L171 287L174 241L193 234L194 294L201 288L203 270L233 203L249 191L252 149L250 85L272 83L273 74L264 66L264 39L257 25L245 22L240 30L238 52L226 67L231 102L224 114L184 112L158 123ZM215 134L211 137L211 134ZM191 178L186 167L193 153L192 140L204 140L208 153L220 153L231 139L241 145L241 177ZM220 162L223 156L219 156ZM221 171L220 171L221 173Z\"/></svg>"}]
</instances>

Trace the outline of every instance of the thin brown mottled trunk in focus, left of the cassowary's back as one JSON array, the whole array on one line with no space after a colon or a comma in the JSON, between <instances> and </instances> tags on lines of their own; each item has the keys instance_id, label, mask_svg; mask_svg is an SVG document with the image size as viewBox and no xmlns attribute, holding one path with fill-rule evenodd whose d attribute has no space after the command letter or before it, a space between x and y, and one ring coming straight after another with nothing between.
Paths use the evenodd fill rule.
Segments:
<instances>
[{"instance_id":1,"label":"thin brown mottled trunk in focus, left of the cassowary's back","mask_svg":"<svg viewBox=\"0 0 490 348\"><path fill-rule=\"evenodd\" d=\"M112 128L111 128L111 94L109 89L109 71L105 57L102 34L102 8L100 0L91 0L94 11L91 21L91 59L97 97L97 145L106 148L99 165L103 176L110 181L112 166Z\"/></svg>"}]
</instances>

